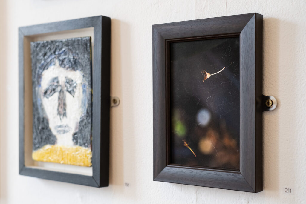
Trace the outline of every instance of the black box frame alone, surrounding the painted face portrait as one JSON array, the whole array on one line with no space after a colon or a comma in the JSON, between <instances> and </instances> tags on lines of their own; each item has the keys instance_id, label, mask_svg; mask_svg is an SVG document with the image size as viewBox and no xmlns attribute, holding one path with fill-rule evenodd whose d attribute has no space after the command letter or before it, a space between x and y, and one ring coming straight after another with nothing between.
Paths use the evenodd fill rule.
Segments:
<instances>
[{"instance_id":1,"label":"black box frame alone, surrounding the painted face portrait","mask_svg":"<svg viewBox=\"0 0 306 204\"><path fill-rule=\"evenodd\" d=\"M94 28L92 176L24 165L24 38L51 32ZM93 187L109 185L110 18L95 16L19 28L19 174Z\"/></svg>"}]
</instances>

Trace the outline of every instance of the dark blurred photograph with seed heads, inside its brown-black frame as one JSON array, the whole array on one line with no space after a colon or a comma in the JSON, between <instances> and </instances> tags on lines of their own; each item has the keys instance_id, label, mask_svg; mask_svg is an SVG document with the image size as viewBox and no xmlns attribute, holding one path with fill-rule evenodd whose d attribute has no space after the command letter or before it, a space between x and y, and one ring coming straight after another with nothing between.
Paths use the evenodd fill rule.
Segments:
<instances>
[{"instance_id":1,"label":"dark blurred photograph with seed heads, inside its brown-black frame","mask_svg":"<svg viewBox=\"0 0 306 204\"><path fill-rule=\"evenodd\" d=\"M239 37L170 43L171 163L239 170L239 86Z\"/></svg>"}]
</instances>

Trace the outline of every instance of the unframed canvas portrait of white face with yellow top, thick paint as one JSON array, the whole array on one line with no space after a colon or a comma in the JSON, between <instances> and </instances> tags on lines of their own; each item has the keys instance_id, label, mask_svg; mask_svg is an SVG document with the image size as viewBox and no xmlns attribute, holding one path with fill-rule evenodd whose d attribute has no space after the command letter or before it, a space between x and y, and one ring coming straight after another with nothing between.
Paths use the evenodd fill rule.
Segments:
<instances>
[{"instance_id":1,"label":"unframed canvas portrait of white face with yellow top, thick paint","mask_svg":"<svg viewBox=\"0 0 306 204\"><path fill-rule=\"evenodd\" d=\"M91 166L91 39L31 42L35 161Z\"/></svg>"}]
</instances>

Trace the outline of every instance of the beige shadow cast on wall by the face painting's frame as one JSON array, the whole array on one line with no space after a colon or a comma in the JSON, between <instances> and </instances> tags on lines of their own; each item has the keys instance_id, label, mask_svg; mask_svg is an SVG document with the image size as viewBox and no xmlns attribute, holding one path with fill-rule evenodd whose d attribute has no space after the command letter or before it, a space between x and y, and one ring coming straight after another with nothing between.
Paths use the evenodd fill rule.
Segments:
<instances>
[{"instance_id":1,"label":"beige shadow cast on wall by the face painting's frame","mask_svg":"<svg viewBox=\"0 0 306 204\"><path fill-rule=\"evenodd\" d=\"M110 93L112 95L116 92L124 102L120 106L110 109L110 184L117 186L117 190L124 192L125 183L129 183L130 187L135 184L135 165L129 165L128 162L136 162L135 135L129 134L129 132L135 132L133 118L135 91L132 88L129 91L123 91L123 84L130 84L135 78L132 69L132 47L129 40L131 39L131 26L128 22L112 19L111 30L112 86ZM126 115L129 119L124 121L123 115ZM126 134L129 136L125 137ZM124 154L124 151L128 151L129 154ZM128 169L124 171L126 166L128 166Z\"/></svg>"}]
</instances>

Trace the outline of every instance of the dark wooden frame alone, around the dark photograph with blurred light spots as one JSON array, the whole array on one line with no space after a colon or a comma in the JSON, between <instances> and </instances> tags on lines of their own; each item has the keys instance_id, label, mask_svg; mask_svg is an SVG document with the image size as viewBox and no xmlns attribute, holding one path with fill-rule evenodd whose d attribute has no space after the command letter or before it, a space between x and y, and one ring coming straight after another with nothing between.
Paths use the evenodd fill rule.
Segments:
<instances>
[{"instance_id":1,"label":"dark wooden frame alone, around the dark photograph with blurred light spots","mask_svg":"<svg viewBox=\"0 0 306 204\"><path fill-rule=\"evenodd\" d=\"M152 26L155 181L248 192L263 190L262 30L263 16L258 13ZM240 170L171 164L169 43L233 36L240 38Z\"/></svg>"}]
</instances>

